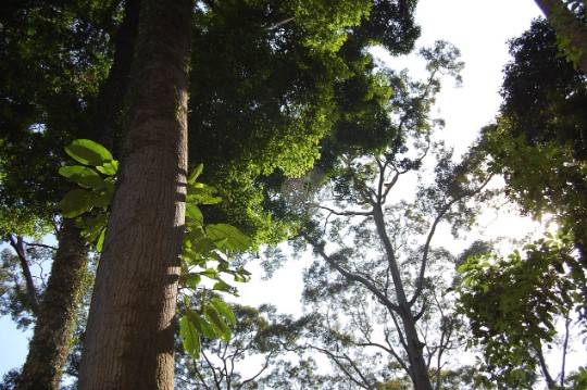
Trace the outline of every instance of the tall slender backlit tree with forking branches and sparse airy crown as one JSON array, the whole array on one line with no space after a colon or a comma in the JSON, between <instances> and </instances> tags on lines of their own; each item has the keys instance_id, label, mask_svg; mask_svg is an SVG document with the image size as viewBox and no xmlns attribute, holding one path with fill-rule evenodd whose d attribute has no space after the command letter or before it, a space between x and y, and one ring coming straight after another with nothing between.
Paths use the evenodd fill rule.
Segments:
<instances>
[{"instance_id":1,"label":"tall slender backlit tree with forking branches and sparse airy crown","mask_svg":"<svg viewBox=\"0 0 587 390\"><path fill-rule=\"evenodd\" d=\"M389 129L394 137L388 147L367 156L344 154L324 199L311 209L309 215L313 217L301 231L321 261L305 277L304 297L317 309L322 303L328 306L324 327L329 331L321 332L325 347L316 349L326 353L354 386L365 389L385 386L390 375L376 373L374 377L373 366L361 365L344 350L349 345L379 350L404 370L415 388L432 389L430 362L436 356L440 372L441 355L454 331L450 315L438 319L438 343L422 330L426 328L422 324L442 313L438 304L441 292L434 288L442 284L430 280L429 269L444 251L433 250L432 239L442 221L471 222L464 200L475 196L485 183L474 156L454 166L450 153L442 153L440 148L436 183L422 188L414 204L386 204L399 188L400 178L419 171L432 148L430 137L438 122L429 117L429 109L440 89L439 75L458 77L462 67L458 51L446 42L422 54L430 73L425 83L409 80L404 74L390 75L396 95L389 108L396 122ZM469 183L467 175L479 175L476 178L480 183ZM409 237L421 236L423 242L410 249L413 239ZM347 316L348 327L334 326L336 318ZM438 378L436 385L440 386Z\"/></svg>"}]
</instances>

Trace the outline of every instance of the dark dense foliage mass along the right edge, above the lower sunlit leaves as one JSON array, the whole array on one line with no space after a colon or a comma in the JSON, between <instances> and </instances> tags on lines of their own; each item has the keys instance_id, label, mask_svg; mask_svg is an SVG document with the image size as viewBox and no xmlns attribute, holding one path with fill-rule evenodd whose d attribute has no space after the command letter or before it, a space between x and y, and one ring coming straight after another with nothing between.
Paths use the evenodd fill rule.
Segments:
<instances>
[{"instance_id":1,"label":"dark dense foliage mass along the right edge, above the lower sunlit leaves","mask_svg":"<svg viewBox=\"0 0 587 390\"><path fill-rule=\"evenodd\" d=\"M584 255L587 83L557 56L554 40L545 21L511 40L500 117L483 130L479 149L504 176L510 198L530 215L554 216Z\"/></svg>"}]
</instances>

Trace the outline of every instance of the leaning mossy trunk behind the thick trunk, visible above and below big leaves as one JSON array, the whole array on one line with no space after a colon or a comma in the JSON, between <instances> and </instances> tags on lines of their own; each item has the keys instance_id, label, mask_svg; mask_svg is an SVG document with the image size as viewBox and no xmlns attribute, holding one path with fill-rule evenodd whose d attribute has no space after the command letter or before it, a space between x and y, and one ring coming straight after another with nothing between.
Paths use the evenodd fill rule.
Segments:
<instances>
[{"instance_id":1,"label":"leaning mossy trunk behind the thick trunk, visible above and below big leaves","mask_svg":"<svg viewBox=\"0 0 587 390\"><path fill-rule=\"evenodd\" d=\"M93 126L89 131L83 131L83 137L100 143L107 143L112 138L111 129L118 119L126 92L137 29L138 4L136 0L127 0L124 20L116 34L114 62L96 103ZM86 241L74 225L71 219L65 219L61 225L59 249L38 311L18 389L59 388L88 265Z\"/></svg>"}]
</instances>

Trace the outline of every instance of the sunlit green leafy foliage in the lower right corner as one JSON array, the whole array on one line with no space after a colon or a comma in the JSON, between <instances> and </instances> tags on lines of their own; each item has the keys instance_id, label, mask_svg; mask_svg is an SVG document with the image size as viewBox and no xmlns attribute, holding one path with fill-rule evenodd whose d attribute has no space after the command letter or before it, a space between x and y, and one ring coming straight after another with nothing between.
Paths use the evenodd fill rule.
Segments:
<instances>
[{"instance_id":1,"label":"sunlit green leafy foliage in the lower right corner","mask_svg":"<svg viewBox=\"0 0 587 390\"><path fill-rule=\"evenodd\" d=\"M482 348L483 369L498 383L529 389L527 375L544 364L557 322L573 310L585 322L587 290L570 237L547 236L523 250L504 259L470 256L459 268L458 291L473 332L469 347Z\"/></svg>"}]
</instances>

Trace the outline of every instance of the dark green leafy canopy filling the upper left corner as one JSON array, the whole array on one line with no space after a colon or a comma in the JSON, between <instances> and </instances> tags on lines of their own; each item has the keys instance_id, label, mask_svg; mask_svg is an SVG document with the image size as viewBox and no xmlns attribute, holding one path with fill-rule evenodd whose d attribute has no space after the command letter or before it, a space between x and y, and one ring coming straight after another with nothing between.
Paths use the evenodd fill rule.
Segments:
<instances>
[{"instance_id":1,"label":"dark green leafy canopy filling the upper left corner","mask_svg":"<svg viewBox=\"0 0 587 390\"><path fill-rule=\"evenodd\" d=\"M42 235L65 181L63 144L88 127L116 1L9 1L0 12L0 229ZM2 232L3 235L4 232Z\"/></svg>"}]
</instances>

